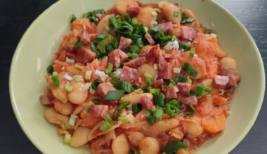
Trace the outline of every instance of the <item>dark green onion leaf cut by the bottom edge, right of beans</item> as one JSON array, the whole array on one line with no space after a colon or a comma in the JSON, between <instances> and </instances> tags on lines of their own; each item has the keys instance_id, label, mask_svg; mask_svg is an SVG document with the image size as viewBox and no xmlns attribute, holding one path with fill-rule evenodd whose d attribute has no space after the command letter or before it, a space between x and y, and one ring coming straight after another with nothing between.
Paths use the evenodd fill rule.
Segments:
<instances>
[{"instance_id":1,"label":"dark green onion leaf cut by the bottom edge, right of beans","mask_svg":"<svg viewBox=\"0 0 267 154\"><path fill-rule=\"evenodd\" d=\"M165 152L166 154L173 154L179 151L181 148L187 148L188 145L181 141L172 141L167 144L164 148L162 148L161 152Z\"/></svg>"}]
</instances>

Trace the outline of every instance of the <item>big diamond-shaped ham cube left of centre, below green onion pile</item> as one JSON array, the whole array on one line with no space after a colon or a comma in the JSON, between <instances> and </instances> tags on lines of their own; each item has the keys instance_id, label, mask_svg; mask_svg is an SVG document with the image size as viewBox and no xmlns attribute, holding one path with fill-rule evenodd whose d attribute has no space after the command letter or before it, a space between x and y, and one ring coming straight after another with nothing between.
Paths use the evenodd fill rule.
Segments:
<instances>
[{"instance_id":1,"label":"big diamond-shaped ham cube left of centre, below green onion pile","mask_svg":"<svg viewBox=\"0 0 267 154\"><path fill-rule=\"evenodd\" d=\"M119 65L127 58L128 56L126 53L120 49L115 49L108 54L108 61L111 62L114 67L119 67Z\"/></svg>"}]
</instances>

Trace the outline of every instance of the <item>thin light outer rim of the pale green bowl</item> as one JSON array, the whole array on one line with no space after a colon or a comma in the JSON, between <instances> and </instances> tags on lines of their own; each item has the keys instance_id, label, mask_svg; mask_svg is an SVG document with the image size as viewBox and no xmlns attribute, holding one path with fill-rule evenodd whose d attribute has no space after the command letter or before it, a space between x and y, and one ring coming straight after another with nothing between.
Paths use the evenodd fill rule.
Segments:
<instances>
[{"instance_id":1,"label":"thin light outer rim of the pale green bowl","mask_svg":"<svg viewBox=\"0 0 267 154\"><path fill-rule=\"evenodd\" d=\"M260 59L259 62L259 69L260 72L262 72L262 78L261 78L261 83L263 83L263 85L260 87L260 98L259 100L261 100L261 102L259 102L256 106L256 113L254 113L252 120L250 120L250 123L247 124L247 127L245 127L245 131L243 134L241 134L239 137L237 137L237 139L235 139L235 142L232 144L232 146L229 146L225 149L226 153L230 153L230 151L233 151L233 149L240 144L240 142L242 141L242 139L244 139L249 130L252 129L252 126L254 125L257 116L259 115L259 111L261 109L261 105L263 104L263 98L264 98L264 94L265 94L265 84L266 84L266 76L265 76L265 69L264 69L264 65L263 65L263 59L261 58L261 53L259 52L259 48L257 47L254 39L252 38L251 34L249 34L249 31L247 31L247 29L245 28L245 26L242 24L242 22L240 22L240 20L238 20L237 18L235 18L235 15L233 15L232 13L230 13L226 8L224 8L223 6L221 6L221 4L219 4L216 1L209 1L210 3L213 3L214 5L216 5L218 8L220 8L221 10L223 10L223 12L225 12L227 15L229 15L230 18L232 18L236 24L242 29L242 31L245 31L245 34L247 36L247 38L249 39L250 42L252 42L253 48L254 50L256 50L256 57L258 59ZM53 10L54 8L56 8L57 6L59 6L61 3L64 3L64 1L56 1L55 3L53 3L51 6L49 6L48 8L46 8L46 10L44 10L30 25L30 27L27 28L27 30L25 31L25 33L22 35L22 38L20 38L20 41L18 43L18 46L15 48L15 52L13 54L13 58L12 58L12 62L11 62L11 69L10 69L10 73L9 73L9 94L10 94L10 98L11 98L11 105L12 105L12 109L13 112L15 113L15 117L18 120L18 123L22 129L22 131L26 134L27 138L30 139L30 141L32 142L32 144L39 150L41 151L41 153L45 153L45 148L44 146L41 146L40 144L37 144L37 142L34 141L32 134L30 133L30 130L25 127L25 123L22 121L21 117L20 117L20 113L19 113L19 109L18 106L15 102L15 95L13 93L13 76L15 75L15 66L16 66L16 60L18 58L19 53L21 52L21 46L23 44L23 42L25 41L25 39L27 38L27 36L30 34L30 29L32 29L32 27L34 27L37 22L39 22L39 20L42 20L42 18L44 18L44 16L51 10Z\"/></svg>"}]
</instances>

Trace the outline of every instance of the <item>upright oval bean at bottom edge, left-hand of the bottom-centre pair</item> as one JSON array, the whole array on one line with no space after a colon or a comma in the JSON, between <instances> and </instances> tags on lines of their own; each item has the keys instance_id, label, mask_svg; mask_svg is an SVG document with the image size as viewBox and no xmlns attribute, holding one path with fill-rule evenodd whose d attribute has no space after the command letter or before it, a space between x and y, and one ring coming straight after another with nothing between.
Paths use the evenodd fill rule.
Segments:
<instances>
[{"instance_id":1,"label":"upright oval bean at bottom edge, left-hand of the bottom-centre pair","mask_svg":"<svg viewBox=\"0 0 267 154\"><path fill-rule=\"evenodd\" d=\"M130 145L125 134L120 134L112 141L112 152L114 154L128 154Z\"/></svg>"}]
</instances>

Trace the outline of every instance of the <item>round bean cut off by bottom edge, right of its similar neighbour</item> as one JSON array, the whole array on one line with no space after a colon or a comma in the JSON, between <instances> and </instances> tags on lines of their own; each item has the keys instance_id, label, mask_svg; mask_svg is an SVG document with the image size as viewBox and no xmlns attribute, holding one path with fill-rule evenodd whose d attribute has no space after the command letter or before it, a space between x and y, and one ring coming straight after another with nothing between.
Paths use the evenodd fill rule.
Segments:
<instances>
[{"instance_id":1,"label":"round bean cut off by bottom edge, right of its similar neighbour","mask_svg":"<svg viewBox=\"0 0 267 154\"><path fill-rule=\"evenodd\" d=\"M139 149L141 154L159 153L159 142L153 137L144 137L139 144Z\"/></svg>"}]
</instances>

